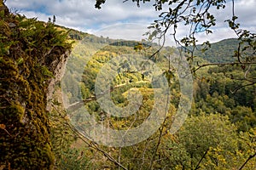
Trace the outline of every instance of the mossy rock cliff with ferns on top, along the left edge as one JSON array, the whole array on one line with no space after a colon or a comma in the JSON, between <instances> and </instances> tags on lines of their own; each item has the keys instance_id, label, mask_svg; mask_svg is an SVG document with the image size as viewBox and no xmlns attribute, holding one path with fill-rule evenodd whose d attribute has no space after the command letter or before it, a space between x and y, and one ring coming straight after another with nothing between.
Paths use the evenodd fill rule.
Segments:
<instances>
[{"instance_id":1,"label":"mossy rock cliff with ferns on top, along the left edge","mask_svg":"<svg viewBox=\"0 0 256 170\"><path fill-rule=\"evenodd\" d=\"M0 1L0 169L52 169L49 105L71 44L53 23L9 14Z\"/></svg>"}]
</instances>

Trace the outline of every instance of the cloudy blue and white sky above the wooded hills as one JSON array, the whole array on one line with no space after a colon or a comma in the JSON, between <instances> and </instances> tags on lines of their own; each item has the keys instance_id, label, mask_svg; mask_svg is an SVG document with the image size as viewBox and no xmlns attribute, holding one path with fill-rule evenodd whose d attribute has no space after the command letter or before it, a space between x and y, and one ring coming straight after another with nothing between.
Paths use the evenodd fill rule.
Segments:
<instances>
[{"instance_id":1,"label":"cloudy blue and white sky above the wooded hills","mask_svg":"<svg viewBox=\"0 0 256 170\"><path fill-rule=\"evenodd\" d=\"M239 17L241 28L256 32L256 0L235 0L235 12ZM154 2L154 1L152 1ZM228 20L232 16L231 3L227 0L226 8L212 10L217 17L217 25L211 35L200 33L199 42L218 42L225 38L236 37L230 31ZM7 0L6 5L12 12L25 14L28 18L48 21L55 15L56 24L79 31L110 38L141 40L147 27L158 19L160 12L155 11L153 3L145 3L137 7L131 0L107 0L102 9L95 8L95 0ZM188 34L188 28L180 26L177 37ZM167 37L167 45L174 45L171 37Z\"/></svg>"}]
</instances>

